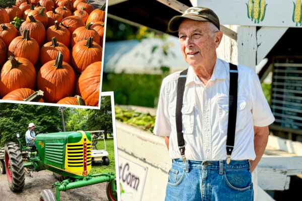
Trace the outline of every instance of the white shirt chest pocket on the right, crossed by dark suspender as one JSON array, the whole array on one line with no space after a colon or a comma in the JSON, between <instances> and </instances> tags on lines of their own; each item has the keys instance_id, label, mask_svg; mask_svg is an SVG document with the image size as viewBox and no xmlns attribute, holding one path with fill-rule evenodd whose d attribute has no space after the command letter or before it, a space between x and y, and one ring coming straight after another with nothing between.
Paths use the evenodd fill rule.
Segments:
<instances>
[{"instance_id":1,"label":"white shirt chest pocket on the right, crossed by dark suspender","mask_svg":"<svg viewBox=\"0 0 302 201\"><path fill-rule=\"evenodd\" d=\"M221 133L228 133L229 97L217 98L219 129ZM244 129L247 121L247 102L244 96L237 99L236 132Z\"/></svg>"}]
</instances>

